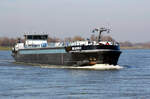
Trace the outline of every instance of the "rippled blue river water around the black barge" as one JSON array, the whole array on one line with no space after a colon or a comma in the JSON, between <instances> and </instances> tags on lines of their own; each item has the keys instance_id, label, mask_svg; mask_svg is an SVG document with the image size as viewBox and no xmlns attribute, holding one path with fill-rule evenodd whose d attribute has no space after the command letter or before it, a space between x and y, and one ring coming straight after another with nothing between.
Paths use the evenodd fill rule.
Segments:
<instances>
[{"instance_id":1,"label":"rippled blue river water around the black barge","mask_svg":"<svg viewBox=\"0 0 150 99\"><path fill-rule=\"evenodd\" d=\"M150 50L123 50L120 70L41 68L0 51L0 99L149 99Z\"/></svg>"}]
</instances>

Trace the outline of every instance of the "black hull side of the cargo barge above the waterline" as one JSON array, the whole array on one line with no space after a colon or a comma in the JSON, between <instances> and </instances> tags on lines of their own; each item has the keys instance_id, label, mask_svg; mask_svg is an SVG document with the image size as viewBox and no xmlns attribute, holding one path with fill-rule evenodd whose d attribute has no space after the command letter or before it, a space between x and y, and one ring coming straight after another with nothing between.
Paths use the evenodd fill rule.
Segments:
<instances>
[{"instance_id":1,"label":"black hull side of the cargo barge above the waterline","mask_svg":"<svg viewBox=\"0 0 150 99\"><path fill-rule=\"evenodd\" d=\"M28 53L28 54L25 53L22 54L20 53L20 51L13 53L13 57L16 60L16 62L65 65L65 66L89 65L91 61L94 61L97 64L117 65L119 56L121 54L121 51L113 49L80 50L62 53L58 52L58 53Z\"/></svg>"}]
</instances>

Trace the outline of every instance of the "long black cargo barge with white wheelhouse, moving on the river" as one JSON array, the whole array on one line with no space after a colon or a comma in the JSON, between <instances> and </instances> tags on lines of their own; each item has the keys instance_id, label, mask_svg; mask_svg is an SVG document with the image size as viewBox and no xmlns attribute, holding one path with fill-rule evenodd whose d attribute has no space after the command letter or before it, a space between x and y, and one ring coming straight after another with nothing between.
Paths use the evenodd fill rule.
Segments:
<instances>
[{"instance_id":1,"label":"long black cargo barge with white wheelhouse, moving on the river","mask_svg":"<svg viewBox=\"0 0 150 99\"><path fill-rule=\"evenodd\" d=\"M109 32L107 28L96 28L97 41L50 42L47 34L25 34L25 42L18 41L12 48L16 62L63 65L90 66L95 64L117 65L121 54L119 43L102 41L101 33Z\"/></svg>"}]
</instances>

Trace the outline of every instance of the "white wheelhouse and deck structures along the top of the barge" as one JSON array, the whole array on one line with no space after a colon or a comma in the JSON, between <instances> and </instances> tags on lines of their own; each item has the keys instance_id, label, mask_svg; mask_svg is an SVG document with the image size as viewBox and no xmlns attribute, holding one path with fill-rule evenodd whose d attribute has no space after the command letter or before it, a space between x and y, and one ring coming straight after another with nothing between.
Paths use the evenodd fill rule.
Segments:
<instances>
[{"instance_id":1,"label":"white wheelhouse and deck structures along the top of the barge","mask_svg":"<svg viewBox=\"0 0 150 99\"><path fill-rule=\"evenodd\" d=\"M25 48L43 48L43 47L67 47L67 46L87 46L87 45L117 45L115 42L109 42L109 41L72 41L72 42L55 42L55 43L48 43L48 35L24 35L25 42L21 43L18 42L14 50L18 49L25 49Z\"/></svg>"}]
</instances>

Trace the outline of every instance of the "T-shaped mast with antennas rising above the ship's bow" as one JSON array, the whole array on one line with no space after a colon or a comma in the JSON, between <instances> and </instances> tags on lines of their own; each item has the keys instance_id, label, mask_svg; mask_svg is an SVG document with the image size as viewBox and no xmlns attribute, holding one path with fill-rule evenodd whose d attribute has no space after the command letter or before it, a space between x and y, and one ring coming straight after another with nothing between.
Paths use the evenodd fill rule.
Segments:
<instances>
[{"instance_id":1,"label":"T-shaped mast with antennas rising above the ship's bow","mask_svg":"<svg viewBox=\"0 0 150 99\"><path fill-rule=\"evenodd\" d=\"M102 32L107 32L107 33L109 33L109 32L110 32L110 29L108 29L108 28L106 28L106 27L101 27L101 28L95 28L92 32L93 32L93 33L99 32L98 42L100 42L100 41L101 41L101 34L102 34Z\"/></svg>"}]
</instances>

